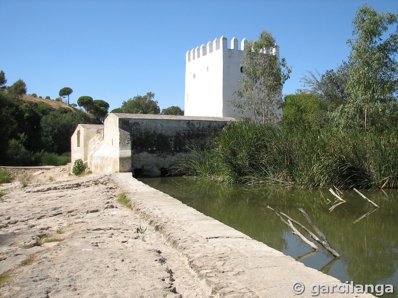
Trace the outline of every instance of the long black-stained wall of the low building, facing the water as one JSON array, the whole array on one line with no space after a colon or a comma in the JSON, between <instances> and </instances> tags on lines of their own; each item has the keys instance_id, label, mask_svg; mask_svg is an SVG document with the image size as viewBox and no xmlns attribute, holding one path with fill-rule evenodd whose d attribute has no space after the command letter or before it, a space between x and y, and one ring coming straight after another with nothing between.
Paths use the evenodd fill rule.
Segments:
<instances>
[{"instance_id":1,"label":"long black-stained wall of the low building, facing the water","mask_svg":"<svg viewBox=\"0 0 398 298\"><path fill-rule=\"evenodd\" d=\"M115 114L119 117L120 152L130 149L135 175L160 176L173 159L202 145L233 118Z\"/></svg>"}]
</instances>

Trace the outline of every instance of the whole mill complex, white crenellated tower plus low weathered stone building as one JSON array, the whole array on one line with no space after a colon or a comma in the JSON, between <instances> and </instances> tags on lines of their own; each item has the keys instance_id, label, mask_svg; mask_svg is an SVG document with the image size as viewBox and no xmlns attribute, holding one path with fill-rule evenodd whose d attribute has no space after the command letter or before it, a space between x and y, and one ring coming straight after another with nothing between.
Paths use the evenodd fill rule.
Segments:
<instances>
[{"instance_id":1,"label":"whole mill complex, white crenellated tower plus low weathered stone building","mask_svg":"<svg viewBox=\"0 0 398 298\"><path fill-rule=\"evenodd\" d=\"M230 104L241 87L246 39L222 36L186 54L184 116L110 113L103 125L79 124L71 139L72 164L81 158L94 173L166 174L187 145L205 143L242 115ZM279 58L279 47L272 53ZM246 115L249 116L250 115Z\"/></svg>"}]
</instances>

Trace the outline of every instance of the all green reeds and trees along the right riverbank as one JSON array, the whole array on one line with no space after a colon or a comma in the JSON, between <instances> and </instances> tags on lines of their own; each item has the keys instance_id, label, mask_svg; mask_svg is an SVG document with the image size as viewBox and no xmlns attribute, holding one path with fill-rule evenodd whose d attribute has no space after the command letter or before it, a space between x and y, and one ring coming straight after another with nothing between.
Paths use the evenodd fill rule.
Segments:
<instances>
[{"instance_id":1,"label":"all green reeds and trees along the right riverbank","mask_svg":"<svg viewBox=\"0 0 398 298\"><path fill-rule=\"evenodd\" d=\"M304 76L307 89L284 98L279 123L267 112L278 105L263 97L280 96L286 76L257 74L258 69L253 75L251 68L243 68L242 82L251 79L243 97L251 100L257 118L229 124L206 149L192 146L177 168L232 183L397 188L398 29L388 31L397 23L397 13L360 7L348 40L348 61L324 74ZM257 52L255 65L272 58L267 51ZM267 84L278 88L252 92L253 86Z\"/></svg>"}]
</instances>

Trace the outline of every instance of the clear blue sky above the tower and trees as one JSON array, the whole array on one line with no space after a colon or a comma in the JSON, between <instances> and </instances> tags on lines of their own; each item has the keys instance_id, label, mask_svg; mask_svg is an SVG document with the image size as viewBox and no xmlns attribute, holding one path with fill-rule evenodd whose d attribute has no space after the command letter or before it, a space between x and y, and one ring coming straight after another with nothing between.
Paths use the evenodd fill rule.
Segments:
<instances>
[{"instance_id":1,"label":"clear blue sky above the tower and trees","mask_svg":"<svg viewBox=\"0 0 398 298\"><path fill-rule=\"evenodd\" d=\"M28 94L58 97L63 87L110 109L154 92L161 109L184 109L185 54L224 35L273 33L292 66L283 93L307 71L347 60L351 22L364 3L398 12L398 0L0 0L0 70Z\"/></svg>"}]
</instances>

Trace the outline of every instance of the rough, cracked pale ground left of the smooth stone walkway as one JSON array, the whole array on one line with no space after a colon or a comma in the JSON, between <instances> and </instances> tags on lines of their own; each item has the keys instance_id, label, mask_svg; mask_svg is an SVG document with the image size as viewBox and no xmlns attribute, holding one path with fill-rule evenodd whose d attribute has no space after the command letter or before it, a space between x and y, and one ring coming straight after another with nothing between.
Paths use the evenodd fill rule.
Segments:
<instances>
[{"instance_id":1,"label":"rough, cracked pale ground left of the smooth stone walkway","mask_svg":"<svg viewBox=\"0 0 398 298\"><path fill-rule=\"evenodd\" d=\"M12 170L1 184L0 297L216 297L106 175ZM21 187L18 176L31 176Z\"/></svg>"}]
</instances>

